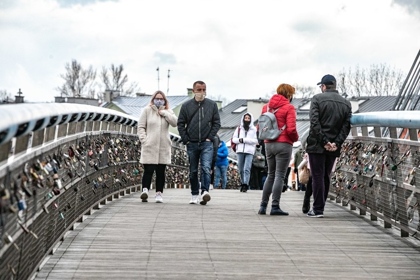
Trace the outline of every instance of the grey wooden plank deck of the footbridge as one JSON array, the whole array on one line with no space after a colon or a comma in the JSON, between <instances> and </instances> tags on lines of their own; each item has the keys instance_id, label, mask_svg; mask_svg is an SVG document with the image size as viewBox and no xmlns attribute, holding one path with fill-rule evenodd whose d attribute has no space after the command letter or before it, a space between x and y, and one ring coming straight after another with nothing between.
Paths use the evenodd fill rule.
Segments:
<instances>
[{"instance_id":1,"label":"grey wooden plank deck of the footbridge","mask_svg":"<svg viewBox=\"0 0 420 280\"><path fill-rule=\"evenodd\" d=\"M418 244L348 208L327 201L324 218L307 217L303 193L289 191L289 216L258 215L261 191L210 194L207 206L189 205L189 189L109 202L35 279L420 279Z\"/></svg>"}]
</instances>

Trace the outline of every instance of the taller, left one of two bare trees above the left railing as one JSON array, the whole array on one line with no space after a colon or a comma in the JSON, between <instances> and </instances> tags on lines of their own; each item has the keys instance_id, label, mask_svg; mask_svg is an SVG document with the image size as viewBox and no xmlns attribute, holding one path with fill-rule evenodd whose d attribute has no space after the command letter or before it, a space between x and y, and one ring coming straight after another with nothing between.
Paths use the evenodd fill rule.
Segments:
<instances>
[{"instance_id":1,"label":"taller, left one of two bare trees above the left railing","mask_svg":"<svg viewBox=\"0 0 420 280\"><path fill-rule=\"evenodd\" d=\"M65 67L66 73L60 74L65 82L56 88L61 96L94 98L96 70L93 70L92 66L83 69L75 59L71 64L66 63Z\"/></svg>"}]
</instances>

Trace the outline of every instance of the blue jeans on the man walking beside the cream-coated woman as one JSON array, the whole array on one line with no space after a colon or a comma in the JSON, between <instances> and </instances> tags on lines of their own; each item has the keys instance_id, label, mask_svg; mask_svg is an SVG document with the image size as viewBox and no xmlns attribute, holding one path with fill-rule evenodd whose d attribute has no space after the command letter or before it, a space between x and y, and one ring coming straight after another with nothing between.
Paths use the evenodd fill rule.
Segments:
<instances>
[{"instance_id":1,"label":"blue jeans on the man walking beside the cream-coated woman","mask_svg":"<svg viewBox=\"0 0 420 280\"><path fill-rule=\"evenodd\" d=\"M191 194L198 195L200 184L198 181L198 163L201 163L201 194L209 191L210 186L210 168L213 157L213 142L189 142L187 144L188 161L190 164L190 184Z\"/></svg>"}]
</instances>

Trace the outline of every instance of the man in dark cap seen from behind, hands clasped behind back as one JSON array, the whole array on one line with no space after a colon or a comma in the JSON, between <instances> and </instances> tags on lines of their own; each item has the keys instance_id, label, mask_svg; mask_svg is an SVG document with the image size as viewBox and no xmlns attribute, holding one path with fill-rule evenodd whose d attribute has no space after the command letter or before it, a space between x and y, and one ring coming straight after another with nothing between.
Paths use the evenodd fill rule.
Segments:
<instances>
[{"instance_id":1,"label":"man in dark cap seen from behind, hands clasped behind back","mask_svg":"<svg viewBox=\"0 0 420 280\"><path fill-rule=\"evenodd\" d=\"M325 75L318 83L322 93L312 98L309 109L311 126L306 141L314 191L309 217L323 217L334 162L350 133L351 104L338 91L337 81Z\"/></svg>"}]
</instances>

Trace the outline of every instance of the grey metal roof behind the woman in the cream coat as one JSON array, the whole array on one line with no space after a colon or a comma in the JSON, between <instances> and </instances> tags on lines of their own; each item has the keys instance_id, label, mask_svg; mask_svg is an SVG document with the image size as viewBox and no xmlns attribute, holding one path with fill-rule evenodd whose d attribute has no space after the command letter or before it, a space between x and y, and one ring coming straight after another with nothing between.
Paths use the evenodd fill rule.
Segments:
<instances>
[{"instance_id":1,"label":"grey metal roof behind the woman in the cream coat","mask_svg":"<svg viewBox=\"0 0 420 280\"><path fill-rule=\"evenodd\" d=\"M171 109L181 105L185 101L191 99L187 95L178 95L178 96L167 96L169 105ZM141 111L145 106L150 103L150 96L140 96L140 97L129 97L129 96L119 96L112 100L112 103L119 108L121 108L126 114L132 115L134 117L140 117ZM101 104L101 106L106 106L109 103Z\"/></svg>"}]
</instances>

